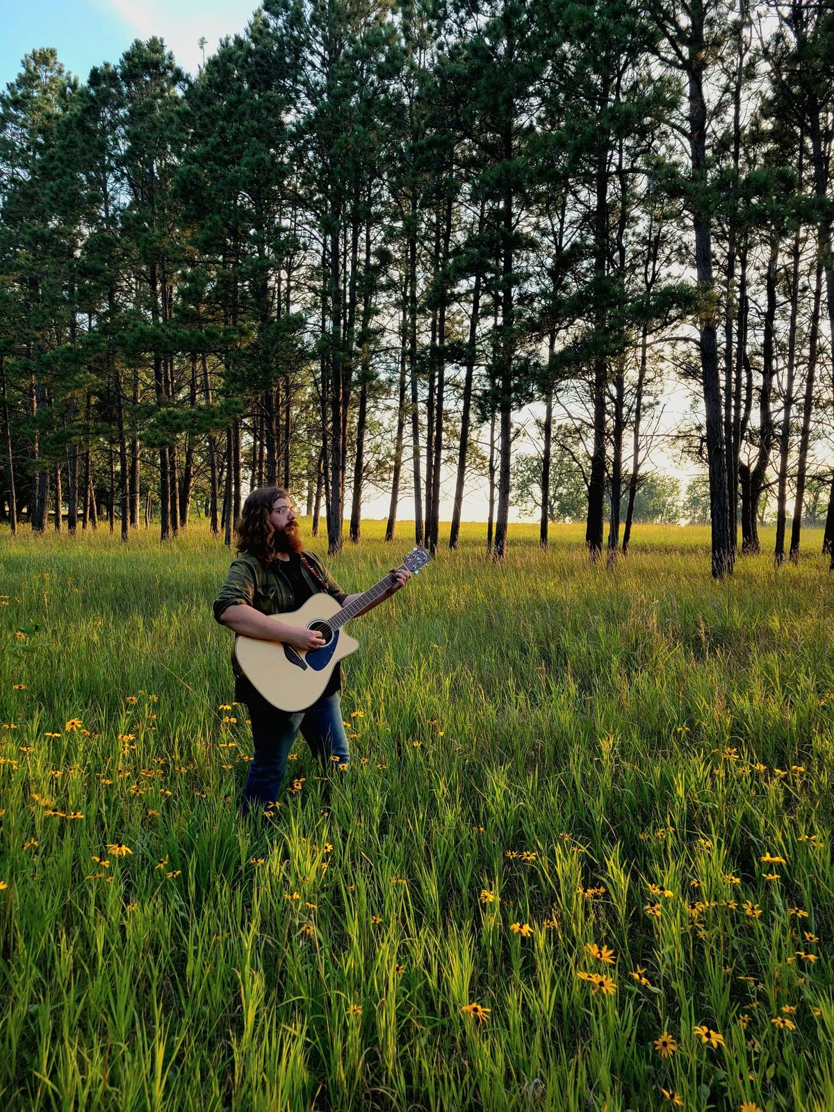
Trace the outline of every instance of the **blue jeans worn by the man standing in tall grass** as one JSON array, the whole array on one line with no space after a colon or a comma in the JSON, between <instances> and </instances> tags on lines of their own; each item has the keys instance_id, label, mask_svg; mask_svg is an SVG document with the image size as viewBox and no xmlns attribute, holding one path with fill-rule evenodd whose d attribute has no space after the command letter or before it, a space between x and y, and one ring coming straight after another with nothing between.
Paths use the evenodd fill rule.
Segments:
<instances>
[{"instance_id":1,"label":"blue jeans worn by the man standing in tall grass","mask_svg":"<svg viewBox=\"0 0 834 1112\"><path fill-rule=\"evenodd\" d=\"M350 762L345 726L341 721L339 693L319 698L306 711L278 711L249 683L246 676L235 682L235 698L249 711L255 756L244 788L241 811L264 810L280 800L280 788L287 772L287 756L299 731L314 756L329 775L340 764ZM331 757L338 757L332 761Z\"/></svg>"}]
</instances>

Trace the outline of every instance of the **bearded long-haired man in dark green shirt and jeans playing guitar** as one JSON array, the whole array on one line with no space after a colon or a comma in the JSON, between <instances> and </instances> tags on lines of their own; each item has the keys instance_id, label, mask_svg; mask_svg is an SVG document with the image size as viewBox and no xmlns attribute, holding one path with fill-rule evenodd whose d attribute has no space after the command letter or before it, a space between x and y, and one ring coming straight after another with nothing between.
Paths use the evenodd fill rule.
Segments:
<instances>
[{"instance_id":1,"label":"bearded long-haired man in dark green shirt and jeans playing guitar","mask_svg":"<svg viewBox=\"0 0 834 1112\"><path fill-rule=\"evenodd\" d=\"M318 556L305 552L292 499L281 487L260 487L244 503L235 527L237 559L214 604L215 617L234 633L277 641L300 651L325 644L320 633L272 622L266 615L297 610L312 594L326 590L341 605L358 598L346 594ZM410 579L405 568L391 568L396 585L360 614L390 598ZM266 808L279 798L287 756L300 729L312 753L329 768L350 759L339 702L340 671L334 669L321 696L306 711L278 711L256 691L238 667L232 651L235 698L249 711L255 756L244 790L242 811ZM332 759L335 758L335 759Z\"/></svg>"}]
</instances>

